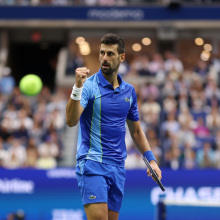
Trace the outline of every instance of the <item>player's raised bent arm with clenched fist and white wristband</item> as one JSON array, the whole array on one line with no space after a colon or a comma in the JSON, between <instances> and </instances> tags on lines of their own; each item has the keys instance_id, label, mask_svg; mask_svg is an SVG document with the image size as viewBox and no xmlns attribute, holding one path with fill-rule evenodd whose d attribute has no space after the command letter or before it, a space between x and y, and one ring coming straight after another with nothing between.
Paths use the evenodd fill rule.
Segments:
<instances>
[{"instance_id":1,"label":"player's raised bent arm with clenched fist and white wristband","mask_svg":"<svg viewBox=\"0 0 220 220\"><path fill-rule=\"evenodd\" d=\"M80 105L83 83L86 81L89 69L81 67L76 69L76 83L66 105L66 124L69 127L77 125L84 108Z\"/></svg>"}]
</instances>

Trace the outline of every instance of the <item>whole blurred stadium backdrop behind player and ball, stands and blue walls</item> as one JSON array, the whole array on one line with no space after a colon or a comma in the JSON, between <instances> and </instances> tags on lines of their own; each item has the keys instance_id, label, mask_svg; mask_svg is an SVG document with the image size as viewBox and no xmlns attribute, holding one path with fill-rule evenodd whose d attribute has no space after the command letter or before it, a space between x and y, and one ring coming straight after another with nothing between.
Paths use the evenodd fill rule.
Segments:
<instances>
[{"instance_id":1,"label":"whole blurred stadium backdrop behind player and ball, stands and blue walls","mask_svg":"<svg viewBox=\"0 0 220 220\"><path fill-rule=\"evenodd\" d=\"M97 72L108 32L126 41L120 74L167 189L147 178L128 134L120 219L165 219L160 198L188 204L167 206L166 219L219 219L219 19L217 0L0 0L0 219L85 219L65 106L74 69ZM43 80L36 97L17 87L28 73Z\"/></svg>"}]
</instances>

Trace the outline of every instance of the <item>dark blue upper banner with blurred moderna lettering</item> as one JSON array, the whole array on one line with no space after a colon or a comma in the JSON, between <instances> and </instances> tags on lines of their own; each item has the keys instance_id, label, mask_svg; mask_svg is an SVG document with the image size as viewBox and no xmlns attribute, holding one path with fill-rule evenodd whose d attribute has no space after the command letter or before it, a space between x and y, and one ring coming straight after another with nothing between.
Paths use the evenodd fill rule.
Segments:
<instances>
[{"instance_id":1,"label":"dark blue upper banner with blurred moderna lettering","mask_svg":"<svg viewBox=\"0 0 220 220\"><path fill-rule=\"evenodd\" d=\"M0 20L164 21L219 20L220 6L204 7L70 7L1 6Z\"/></svg>"}]
</instances>

